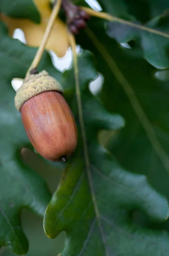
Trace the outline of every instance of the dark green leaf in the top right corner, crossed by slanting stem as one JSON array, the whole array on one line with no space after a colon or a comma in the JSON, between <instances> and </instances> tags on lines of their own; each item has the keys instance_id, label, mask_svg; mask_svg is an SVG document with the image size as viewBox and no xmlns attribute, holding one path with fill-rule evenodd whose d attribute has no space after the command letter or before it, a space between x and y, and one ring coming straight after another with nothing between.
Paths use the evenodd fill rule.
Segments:
<instances>
[{"instance_id":1,"label":"dark green leaf in the top right corner, crossed by slanting stem","mask_svg":"<svg viewBox=\"0 0 169 256\"><path fill-rule=\"evenodd\" d=\"M143 18L144 15L138 15L138 10L151 10L152 6L154 6L154 9L158 9L158 6L161 5L161 1L155 1L155 3L153 1L152 3L152 1L149 0L149 2L146 3L148 5L147 8L144 7L144 1L139 1L136 6L135 4L134 6L132 5L134 2L135 1L125 3L125 8L124 3L119 2L118 4L121 6L121 9L118 8L118 10L121 10L121 12L119 12L115 8L118 4L115 4L114 1L104 1L104 3L102 0L99 1L103 10L108 13L130 20L133 23L141 24L141 22L146 22L146 24L144 24L146 27L168 33L169 17L168 13L164 12L166 4L162 5L164 9L157 17L151 16L151 12L149 12L149 14L146 15L146 18ZM154 13L153 10L152 12ZM169 67L169 38L116 22L107 22L106 28L108 35L119 43L134 42L134 46L131 45L131 49L128 50L130 53L131 51L135 52L138 51L138 49L141 49L144 58L154 67L159 69Z\"/></svg>"}]
</instances>

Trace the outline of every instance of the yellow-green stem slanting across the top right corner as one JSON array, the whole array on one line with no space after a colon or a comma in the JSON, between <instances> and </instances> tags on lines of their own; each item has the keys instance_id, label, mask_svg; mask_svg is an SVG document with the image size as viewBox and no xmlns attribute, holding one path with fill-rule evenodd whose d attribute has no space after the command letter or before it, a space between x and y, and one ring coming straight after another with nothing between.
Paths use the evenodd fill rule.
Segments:
<instances>
[{"instance_id":1,"label":"yellow-green stem slanting across the top right corner","mask_svg":"<svg viewBox=\"0 0 169 256\"><path fill-rule=\"evenodd\" d=\"M149 33L153 33L153 34L156 34L156 35L161 35L165 38L169 38L168 33L165 33L165 32L162 32L162 31L159 31L159 30L156 30L156 29L151 29L151 28L148 28L146 26L139 25L139 24L135 24L131 21L124 20L124 19L118 18L116 16L110 15L109 13L96 12L93 9L85 7L85 6L81 6L80 8L83 11L87 12L87 14L90 15L90 16L98 17L98 18L101 18L101 19L109 20L109 21L115 21L115 22L118 22L118 23L121 23L121 24L125 24L127 26L132 26L136 29L141 29L141 30L147 31Z\"/></svg>"}]
</instances>

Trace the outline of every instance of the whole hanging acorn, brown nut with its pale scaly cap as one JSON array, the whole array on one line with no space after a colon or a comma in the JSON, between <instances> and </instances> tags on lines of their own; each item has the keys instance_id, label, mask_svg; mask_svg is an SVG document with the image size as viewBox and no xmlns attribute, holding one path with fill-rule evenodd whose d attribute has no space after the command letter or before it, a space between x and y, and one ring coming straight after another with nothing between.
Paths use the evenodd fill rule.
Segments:
<instances>
[{"instance_id":1,"label":"whole hanging acorn, brown nut with its pale scaly cap","mask_svg":"<svg viewBox=\"0 0 169 256\"><path fill-rule=\"evenodd\" d=\"M65 161L77 145L75 120L62 93L61 84L43 70L28 74L15 96L31 144L54 162Z\"/></svg>"}]
</instances>

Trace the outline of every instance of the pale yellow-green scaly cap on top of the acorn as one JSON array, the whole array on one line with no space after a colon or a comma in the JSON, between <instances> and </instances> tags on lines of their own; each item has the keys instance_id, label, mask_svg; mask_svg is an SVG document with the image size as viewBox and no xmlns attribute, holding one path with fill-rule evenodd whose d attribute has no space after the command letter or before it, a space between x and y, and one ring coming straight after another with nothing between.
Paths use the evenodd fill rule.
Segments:
<instances>
[{"instance_id":1,"label":"pale yellow-green scaly cap on top of the acorn","mask_svg":"<svg viewBox=\"0 0 169 256\"><path fill-rule=\"evenodd\" d=\"M63 93L61 84L56 81L48 72L43 70L38 74L28 74L23 80L22 86L17 90L15 96L15 107L20 111L22 105L37 94L57 91Z\"/></svg>"}]
</instances>

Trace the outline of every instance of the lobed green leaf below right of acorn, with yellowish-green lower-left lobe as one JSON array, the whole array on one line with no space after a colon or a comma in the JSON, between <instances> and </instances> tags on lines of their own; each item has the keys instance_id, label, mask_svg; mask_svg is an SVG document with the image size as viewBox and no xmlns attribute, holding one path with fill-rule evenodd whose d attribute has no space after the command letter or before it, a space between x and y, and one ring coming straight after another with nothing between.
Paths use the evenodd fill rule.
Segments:
<instances>
[{"instance_id":1,"label":"lobed green leaf below right of acorn, with yellowish-green lower-left lobe","mask_svg":"<svg viewBox=\"0 0 169 256\"><path fill-rule=\"evenodd\" d=\"M79 131L77 151L68 162L46 209L45 233L54 239L66 231L63 256L120 255L124 252L125 256L131 256L138 255L137 251L145 255L145 247L146 255L158 255L159 251L165 255L169 250L167 234L135 226L130 221L129 211L141 209L152 219L162 221L168 218L167 201L149 186L146 176L126 171L99 145L97 133L101 128L119 129L124 121L117 114L107 112L89 92L88 84L97 75L90 52L83 52L78 63L90 166L86 166L83 158ZM66 71L60 81L77 119L73 68Z\"/></svg>"}]
</instances>

